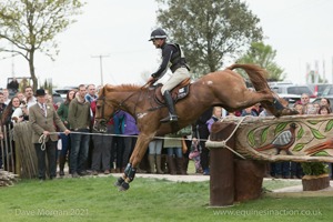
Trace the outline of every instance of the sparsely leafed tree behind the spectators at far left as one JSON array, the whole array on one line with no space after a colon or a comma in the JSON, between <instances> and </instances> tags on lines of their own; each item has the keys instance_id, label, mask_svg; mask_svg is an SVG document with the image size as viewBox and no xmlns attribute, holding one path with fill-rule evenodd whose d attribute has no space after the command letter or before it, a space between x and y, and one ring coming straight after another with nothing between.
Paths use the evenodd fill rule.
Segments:
<instances>
[{"instance_id":1,"label":"sparsely leafed tree behind the spectators at far left","mask_svg":"<svg viewBox=\"0 0 333 222\"><path fill-rule=\"evenodd\" d=\"M0 52L22 56L29 64L33 90L38 87L34 53L40 51L53 60L58 54L54 37L75 22L81 13L79 0L10 0L0 2Z\"/></svg>"}]
</instances>

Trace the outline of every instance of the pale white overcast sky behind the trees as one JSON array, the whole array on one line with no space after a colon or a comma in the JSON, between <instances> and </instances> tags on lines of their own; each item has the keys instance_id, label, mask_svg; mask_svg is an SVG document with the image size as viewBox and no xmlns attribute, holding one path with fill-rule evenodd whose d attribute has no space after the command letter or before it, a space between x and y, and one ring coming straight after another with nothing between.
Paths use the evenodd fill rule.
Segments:
<instances>
[{"instance_id":1,"label":"pale white overcast sky behind the trees","mask_svg":"<svg viewBox=\"0 0 333 222\"><path fill-rule=\"evenodd\" d=\"M160 52L148 41L157 28L158 3L154 0L85 2L83 13L75 18L78 22L56 37L60 50L56 61L36 54L37 77L42 82L52 78L56 87L143 84L142 74L149 75L159 67ZM260 18L264 43L276 50L275 61L284 69L286 80L305 83L306 63L313 70L317 63L319 73L332 83L333 1L245 2ZM28 62L0 53L0 88L12 75L29 75Z\"/></svg>"}]
</instances>

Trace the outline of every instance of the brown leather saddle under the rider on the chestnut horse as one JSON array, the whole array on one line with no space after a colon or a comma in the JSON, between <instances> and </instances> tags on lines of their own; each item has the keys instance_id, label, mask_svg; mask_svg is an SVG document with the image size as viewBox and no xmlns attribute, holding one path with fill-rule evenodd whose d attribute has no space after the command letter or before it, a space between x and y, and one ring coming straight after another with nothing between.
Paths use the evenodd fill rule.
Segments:
<instances>
[{"instance_id":1,"label":"brown leather saddle under the rider on the chestnut horse","mask_svg":"<svg viewBox=\"0 0 333 222\"><path fill-rule=\"evenodd\" d=\"M176 103L179 100L184 99L190 91L191 79L184 79L181 83L179 83L175 88L173 88L170 93L173 99L173 102ZM165 104L164 97L162 95L161 88L162 83L153 85L152 90L154 90L154 100L158 104Z\"/></svg>"}]
</instances>

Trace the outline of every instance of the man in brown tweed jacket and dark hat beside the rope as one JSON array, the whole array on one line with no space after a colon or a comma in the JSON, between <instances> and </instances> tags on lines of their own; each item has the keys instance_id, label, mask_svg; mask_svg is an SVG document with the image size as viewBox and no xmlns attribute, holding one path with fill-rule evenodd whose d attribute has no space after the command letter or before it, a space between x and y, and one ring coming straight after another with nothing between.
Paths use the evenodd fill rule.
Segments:
<instances>
[{"instance_id":1,"label":"man in brown tweed jacket and dark hat beside the rope","mask_svg":"<svg viewBox=\"0 0 333 222\"><path fill-rule=\"evenodd\" d=\"M57 114L53 104L47 103L46 91L36 91L37 103L29 109L29 121L32 127L32 143L34 144L38 159L38 178L46 180L46 154L49 163L49 178L57 176L57 142L58 133L56 125L64 133L70 131L64 127ZM56 125L54 125L56 124Z\"/></svg>"}]
</instances>

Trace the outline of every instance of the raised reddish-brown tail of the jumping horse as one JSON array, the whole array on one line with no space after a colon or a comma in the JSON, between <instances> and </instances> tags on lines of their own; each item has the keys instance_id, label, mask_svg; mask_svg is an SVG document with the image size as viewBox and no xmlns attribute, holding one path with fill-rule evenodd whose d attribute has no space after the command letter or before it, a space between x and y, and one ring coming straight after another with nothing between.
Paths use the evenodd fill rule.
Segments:
<instances>
[{"instance_id":1,"label":"raised reddish-brown tail of the jumping horse","mask_svg":"<svg viewBox=\"0 0 333 222\"><path fill-rule=\"evenodd\" d=\"M262 69L261 67L258 67L255 64L232 64L231 67L228 67L226 69L233 70L236 68L241 68L245 70L248 73L250 81L252 82L254 89L256 91L261 90L269 90L269 83L266 81L268 72Z\"/></svg>"}]
</instances>

